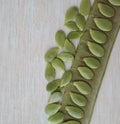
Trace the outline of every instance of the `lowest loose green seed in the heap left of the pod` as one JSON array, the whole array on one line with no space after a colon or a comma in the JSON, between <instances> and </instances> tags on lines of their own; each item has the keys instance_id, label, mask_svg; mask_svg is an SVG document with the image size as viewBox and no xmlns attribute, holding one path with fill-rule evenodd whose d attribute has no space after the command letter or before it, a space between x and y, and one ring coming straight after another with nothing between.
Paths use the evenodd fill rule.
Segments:
<instances>
[{"instance_id":1,"label":"lowest loose green seed in the heap left of the pod","mask_svg":"<svg viewBox=\"0 0 120 124\"><path fill-rule=\"evenodd\" d=\"M48 121L52 124L59 124L63 120L64 120L64 114L62 112L58 112L48 118Z\"/></svg>"}]
</instances>

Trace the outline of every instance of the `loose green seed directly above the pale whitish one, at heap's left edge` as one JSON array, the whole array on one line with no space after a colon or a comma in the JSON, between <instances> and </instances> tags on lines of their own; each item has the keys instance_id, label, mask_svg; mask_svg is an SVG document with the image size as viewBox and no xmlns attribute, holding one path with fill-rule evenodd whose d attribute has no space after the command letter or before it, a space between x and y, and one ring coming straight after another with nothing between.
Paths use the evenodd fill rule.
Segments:
<instances>
[{"instance_id":1,"label":"loose green seed directly above the pale whitish one, at heap's left edge","mask_svg":"<svg viewBox=\"0 0 120 124\"><path fill-rule=\"evenodd\" d=\"M54 80L54 81L48 83L47 87L46 87L47 91L48 92L55 91L60 86L60 83L61 83L60 79L57 79L57 80Z\"/></svg>"}]
</instances>

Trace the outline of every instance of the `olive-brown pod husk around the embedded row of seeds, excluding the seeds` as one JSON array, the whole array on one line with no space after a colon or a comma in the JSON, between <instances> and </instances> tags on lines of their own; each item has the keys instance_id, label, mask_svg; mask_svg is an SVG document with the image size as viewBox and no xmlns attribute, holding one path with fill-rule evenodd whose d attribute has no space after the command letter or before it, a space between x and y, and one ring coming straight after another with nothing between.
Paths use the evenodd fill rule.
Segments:
<instances>
[{"instance_id":1,"label":"olive-brown pod husk around the embedded row of seeds, excluding the seeds","mask_svg":"<svg viewBox=\"0 0 120 124\"><path fill-rule=\"evenodd\" d=\"M90 52L89 49L87 47L87 41L91 40L90 38L90 34L89 34L89 29L96 29L98 30L98 28L96 27L95 23L94 23L94 17L103 17L99 11L98 11L98 6L97 3L98 2L104 2L109 4L110 6L112 6L108 0L95 0L92 8L91 8L91 12L89 14L88 20L86 22L86 27L84 30L84 34L81 37L80 43L78 45L76 54L75 54L75 61L71 67L71 71L73 73L73 78L72 78L72 82L73 81L79 81L79 80L85 80L80 76L80 73L78 72L77 68L79 66L84 66L84 62L83 62L83 58L87 57L87 56L93 56ZM105 32L106 35L108 36L108 40L107 42L103 45L104 49L105 49L105 55L102 58L99 58L100 63L101 63L101 67L98 68L97 70L94 70L94 78L92 80L86 80L87 82L90 83L91 87L92 87L92 92L91 94L87 97L88 98L88 105L86 107L83 108L83 110L85 111L85 118L81 119L81 124L90 124L90 120L91 120L91 116L94 110L94 105L96 102L96 98L103 80L103 76L108 64L108 60L110 57L110 53L112 51L114 42L116 40L117 34L119 32L120 29L120 7L115 7L112 6L115 9L115 16L110 18L110 20L113 23L113 29L109 32ZM104 17L105 18L105 17ZM86 55L86 56L83 56ZM69 105L69 101L70 97L69 97L69 93L71 91L76 92L76 89L72 86L72 82L65 87L64 90L64 95L63 95L63 101L62 101L62 110L64 111L64 107L66 105ZM67 116L66 116L66 120L67 120Z\"/></svg>"}]
</instances>

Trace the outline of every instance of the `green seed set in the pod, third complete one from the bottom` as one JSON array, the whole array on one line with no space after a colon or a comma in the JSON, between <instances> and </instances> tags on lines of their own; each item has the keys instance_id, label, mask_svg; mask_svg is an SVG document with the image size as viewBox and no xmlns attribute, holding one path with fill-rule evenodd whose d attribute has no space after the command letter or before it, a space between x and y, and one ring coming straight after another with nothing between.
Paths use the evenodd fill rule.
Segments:
<instances>
[{"instance_id":1,"label":"green seed set in the pod, third complete one from the bottom","mask_svg":"<svg viewBox=\"0 0 120 124\"><path fill-rule=\"evenodd\" d=\"M76 81L73 83L73 85L77 88L80 93L84 95L88 95L91 92L91 87L84 81Z\"/></svg>"}]
</instances>

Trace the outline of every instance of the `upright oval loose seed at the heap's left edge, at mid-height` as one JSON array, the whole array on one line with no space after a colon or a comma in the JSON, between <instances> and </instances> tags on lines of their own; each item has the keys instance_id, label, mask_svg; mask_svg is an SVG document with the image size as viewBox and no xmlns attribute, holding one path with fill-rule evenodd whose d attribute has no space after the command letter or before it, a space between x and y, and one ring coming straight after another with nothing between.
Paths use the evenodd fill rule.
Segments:
<instances>
[{"instance_id":1,"label":"upright oval loose seed at the heap's left edge, at mid-height","mask_svg":"<svg viewBox=\"0 0 120 124\"><path fill-rule=\"evenodd\" d=\"M55 79L55 69L53 68L53 66L48 63L47 66L46 66L46 70L45 70L45 78L48 80L48 81L52 81Z\"/></svg>"}]
</instances>

